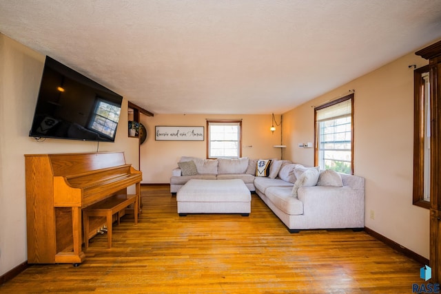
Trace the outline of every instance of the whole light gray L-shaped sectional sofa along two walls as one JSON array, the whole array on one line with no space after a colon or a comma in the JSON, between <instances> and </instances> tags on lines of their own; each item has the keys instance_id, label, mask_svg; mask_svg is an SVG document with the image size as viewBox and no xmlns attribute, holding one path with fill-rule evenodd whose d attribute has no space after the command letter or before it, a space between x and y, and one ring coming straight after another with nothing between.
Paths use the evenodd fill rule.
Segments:
<instances>
[{"instance_id":1,"label":"whole light gray L-shaped sectional sofa along two walls","mask_svg":"<svg viewBox=\"0 0 441 294\"><path fill-rule=\"evenodd\" d=\"M170 191L176 193L191 178L240 178L291 233L303 229L365 227L364 178L275 159L271 160L268 176L254 176L256 162L248 158L207 160L182 157L178 165L190 176L183 176L183 169L174 169ZM191 171L194 166L196 171Z\"/></svg>"}]
</instances>

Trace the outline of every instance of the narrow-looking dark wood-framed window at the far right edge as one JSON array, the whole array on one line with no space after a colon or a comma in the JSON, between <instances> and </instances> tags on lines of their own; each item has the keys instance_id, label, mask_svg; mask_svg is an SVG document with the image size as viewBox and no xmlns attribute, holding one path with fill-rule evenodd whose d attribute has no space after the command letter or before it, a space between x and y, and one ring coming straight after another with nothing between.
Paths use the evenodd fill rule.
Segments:
<instances>
[{"instance_id":1,"label":"narrow-looking dark wood-framed window at the far right edge","mask_svg":"<svg viewBox=\"0 0 441 294\"><path fill-rule=\"evenodd\" d=\"M413 72L413 204L430 207L431 96L429 65Z\"/></svg>"}]
</instances>

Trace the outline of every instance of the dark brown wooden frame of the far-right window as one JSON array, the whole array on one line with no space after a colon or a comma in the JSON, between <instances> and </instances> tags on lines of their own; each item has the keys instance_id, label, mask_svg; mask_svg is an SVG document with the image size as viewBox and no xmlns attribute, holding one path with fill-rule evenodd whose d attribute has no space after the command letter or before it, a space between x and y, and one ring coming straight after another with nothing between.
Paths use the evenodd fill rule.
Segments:
<instances>
[{"instance_id":1,"label":"dark brown wooden frame of the far-right window","mask_svg":"<svg viewBox=\"0 0 441 294\"><path fill-rule=\"evenodd\" d=\"M430 67L413 70L413 205L430 209L430 201L424 200L424 83L422 75L429 73ZM429 92L431 89L429 88ZM433 112L433 99L430 100L429 112ZM432 113L430 114L433 118ZM431 142L429 143L430 145ZM431 146L432 147L432 146ZM431 179L431 176L430 180Z\"/></svg>"}]
</instances>

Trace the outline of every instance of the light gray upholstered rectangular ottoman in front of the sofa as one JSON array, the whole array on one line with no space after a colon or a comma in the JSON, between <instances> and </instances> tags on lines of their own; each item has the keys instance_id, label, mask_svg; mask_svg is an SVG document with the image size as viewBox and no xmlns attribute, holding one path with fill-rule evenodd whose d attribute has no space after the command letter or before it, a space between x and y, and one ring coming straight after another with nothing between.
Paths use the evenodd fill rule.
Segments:
<instances>
[{"instance_id":1,"label":"light gray upholstered rectangular ottoman in front of the sofa","mask_svg":"<svg viewBox=\"0 0 441 294\"><path fill-rule=\"evenodd\" d=\"M189 180L178 193L179 216L187 213L251 213L251 193L243 180Z\"/></svg>"}]
</instances>

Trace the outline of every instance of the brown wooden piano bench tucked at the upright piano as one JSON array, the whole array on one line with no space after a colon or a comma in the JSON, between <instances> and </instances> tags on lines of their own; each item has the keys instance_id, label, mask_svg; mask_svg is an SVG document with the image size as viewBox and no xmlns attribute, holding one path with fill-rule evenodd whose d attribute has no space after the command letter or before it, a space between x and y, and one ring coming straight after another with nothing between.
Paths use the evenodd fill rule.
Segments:
<instances>
[{"instance_id":1,"label":"brown wooden piano bench tucked at the upright piano","mask_svg":"<svg viewBox=\"0 0 441 294\"><path fill-rule=\"evenodd\" d=\"M89 246L89 218L91 216L105 216L107 225L107 246L112 248L112 220L113 215L118 213L118 224L121 212L130 204L134 204L135 224L138 224L138 197L136 194L114 195L110 198L96 202L83 209L84 247Z\"/></svg>"}]
</instances>

